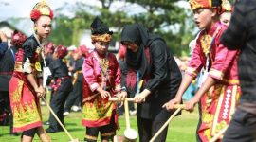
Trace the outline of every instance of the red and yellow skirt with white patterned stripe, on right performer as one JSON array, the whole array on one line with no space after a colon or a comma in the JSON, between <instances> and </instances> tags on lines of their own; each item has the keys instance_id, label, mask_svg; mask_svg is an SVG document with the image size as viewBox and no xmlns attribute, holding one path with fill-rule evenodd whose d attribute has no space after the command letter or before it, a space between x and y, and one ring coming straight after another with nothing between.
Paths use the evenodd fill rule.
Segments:
<instances>
[{"instance_id":1,"label":"red and yellow skirt with white patterned stripe, on right performer","mask_svg":"<svg viewBox=\"0 0 256 142\"><path fill-rule=\"evenodd\" d=\"M240 95L240 86L218 84L201 98L202 123L198 134L203 142L229 126Z\"/></svg>"}]
</instances>

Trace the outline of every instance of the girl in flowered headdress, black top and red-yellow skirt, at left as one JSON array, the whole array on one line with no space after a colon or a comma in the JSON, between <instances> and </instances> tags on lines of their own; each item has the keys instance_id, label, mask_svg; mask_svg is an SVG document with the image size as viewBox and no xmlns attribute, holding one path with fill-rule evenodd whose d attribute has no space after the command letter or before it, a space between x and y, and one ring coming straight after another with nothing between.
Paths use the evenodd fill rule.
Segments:
<instances>
[{"instance_id":1,"label":"girl in flowered headdress, black top and red-yellow skirt, at left","mask_svg":"<svg viewBox=\"0 0 256 142\"><path fill-rule=\"evenodd\" d=\"M23 132L21 141L32 141L37 133L44 142L50 141L42 125L39 98L45 95L42 79L42 41L51 31L53 13L45 1L35 5L30 13L34 34L16 53L13 76L9 82L13 132Z\"/></svg>"}]
</instances>

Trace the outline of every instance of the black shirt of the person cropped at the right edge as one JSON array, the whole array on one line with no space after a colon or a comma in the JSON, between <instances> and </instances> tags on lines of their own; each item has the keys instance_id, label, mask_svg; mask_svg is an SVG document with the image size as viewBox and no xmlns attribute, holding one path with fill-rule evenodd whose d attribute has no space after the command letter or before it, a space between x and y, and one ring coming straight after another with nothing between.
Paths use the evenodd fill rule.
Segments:
<instances>
[{"instance_id":1,"label":"black shirt of the person cropped at the right edge","mask_svg":"<svg viewBox=\"0 0 256 142\"><path fill-rule=\"evenodd\" d=\"M241 101L256 101L256 2L236 1L230 25L221 37L221 42L229 49L241 49L239 56L239 78L243 96ZM238 40L239 39L239 40Z\"/></svg>"}]
</instances>

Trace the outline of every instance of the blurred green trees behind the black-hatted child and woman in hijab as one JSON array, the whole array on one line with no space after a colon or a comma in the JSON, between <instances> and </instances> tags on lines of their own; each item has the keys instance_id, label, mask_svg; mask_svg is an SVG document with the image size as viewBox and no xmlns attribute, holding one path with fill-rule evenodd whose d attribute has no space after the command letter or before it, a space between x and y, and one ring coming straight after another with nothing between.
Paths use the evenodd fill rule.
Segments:
<instances>
[{"instance_id":1,"label":"blurred green trees behind the black-hatted child and woman in hijab","mask_svg":"<svg viewBox=\"0 0 256 142\"><path fill-rule=\"evenodd\" d=\"M136 3L146 9L146 12L128 15L125 11L111 12L110 6L115 0L100 0L101 8L91 7L86 3L73 6L75 16L69 18L57 16L51 34L51 40L56 44L79 45L82 31L90 29L90 24L99 15L109 27L115 27L114 40L119 41L120 31L124 25L139 23L147 27L150 32L162 36L174 55L188 53L188 44L192 40L191 11L177 6L179 0L126 0L127 5ZM64 8L63 8L64 9Z\"/></svg>"}]
</instances>

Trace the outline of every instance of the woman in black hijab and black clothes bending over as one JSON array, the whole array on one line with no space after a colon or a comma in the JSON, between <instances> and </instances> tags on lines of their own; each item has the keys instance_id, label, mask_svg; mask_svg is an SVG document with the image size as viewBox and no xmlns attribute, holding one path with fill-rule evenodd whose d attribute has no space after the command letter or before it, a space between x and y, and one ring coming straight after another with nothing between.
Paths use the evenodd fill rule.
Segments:
<instances>
[{"instance_id":1,"label":"woman in black hijab and black clothes bending over","mask_svg":"<svg viewBox=\"0 0 256 142\"><path fill-rule=\"evenodd\" d=\"M165 41L141 25L123 27L121 44L127 49L127 73L122 74L126 80L122 80L119 97L126 97L128 89L138 92L135 101L139 141L148 142L172 115L162 105L174 98L181 73ZM140 80L143 80L141 89ZM167 131L168 127L156 141L165 142Z\"/></svg>"}]
</instances>

